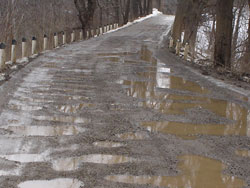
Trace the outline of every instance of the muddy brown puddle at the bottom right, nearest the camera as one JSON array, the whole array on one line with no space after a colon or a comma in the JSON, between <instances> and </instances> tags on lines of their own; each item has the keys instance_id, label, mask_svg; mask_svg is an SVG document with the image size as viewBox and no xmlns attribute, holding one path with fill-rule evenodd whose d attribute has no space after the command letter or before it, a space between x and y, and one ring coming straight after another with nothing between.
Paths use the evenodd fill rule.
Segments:
<instances>
[{"instance_id":1,"label":"muddy brown puddle at the bottom right, nearest the camera","mask_svg":"<svg viewBox=\"0 0 250 188\"><path fill-rule=\"evenodd\" d=\"M115 175L105 179L113 182L153 185L169 188L240 188L241 179L222 174L225 166L216 160L200 156L182 156L178 168L182 171L176 177Z\"/></svg>"}]
</instances>

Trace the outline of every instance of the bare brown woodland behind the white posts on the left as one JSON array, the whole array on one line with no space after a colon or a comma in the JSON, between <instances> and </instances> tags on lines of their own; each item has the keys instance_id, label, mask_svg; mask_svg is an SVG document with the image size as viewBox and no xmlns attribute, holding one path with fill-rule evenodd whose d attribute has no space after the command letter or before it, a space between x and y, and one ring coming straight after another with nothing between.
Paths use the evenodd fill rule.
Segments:
<instances>
[{"instance_id":1,"label":"bare brown woodland behind the white posts on the left","mask_svg":"<svg viewBox=\"0 0 250 188\"><path fill-rule=\"evenodd\" d=\"M7 44L6 51L9 53L12 40L17 40L17 52L21 52L22 38L25 37L31 43L31 38L35 36L38 50L41 50L44 34L53 39L54 33L83 29L85 36L88 29L113 23L123 25L150 14L152 1L0 0L0 41ZM49 46L53 47L53 40L49 40Z\"/></svg>"}]
</instances>

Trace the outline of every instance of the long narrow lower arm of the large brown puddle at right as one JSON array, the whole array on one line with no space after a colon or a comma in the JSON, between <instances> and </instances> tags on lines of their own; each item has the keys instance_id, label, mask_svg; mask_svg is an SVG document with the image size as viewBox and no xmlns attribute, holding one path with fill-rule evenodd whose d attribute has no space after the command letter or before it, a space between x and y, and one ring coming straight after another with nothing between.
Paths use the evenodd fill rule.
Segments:
<instances>
[{"instance_id":1,"label":"long narrow lower arm of the large brown puddle at right","mask_svg":"<svg viewBox=\"0 0 250 188\"><path fill-rule=\"evenodd\" d=\"M240 127L238 125L191 124L180 122L143 122L141 125L152 132L174 134L180 137L199 134L215 136L244 136L246 134L246 127Z\"/></svg>"}]
</instances>

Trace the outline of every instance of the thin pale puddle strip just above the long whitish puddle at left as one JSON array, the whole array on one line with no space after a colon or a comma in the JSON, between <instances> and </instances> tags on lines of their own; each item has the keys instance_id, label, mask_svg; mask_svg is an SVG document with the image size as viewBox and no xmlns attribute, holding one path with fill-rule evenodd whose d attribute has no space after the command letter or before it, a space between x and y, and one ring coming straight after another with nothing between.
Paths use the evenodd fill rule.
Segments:
<instances>
[{"instance_id":1,"label":"thin pale puddle strip just above the long whitish puddle at left","mask_svg":"<svg viewBox=\"0 0 250 188\"><path fill-rule=\"evenodd\" d=\"M33 116L33 119L38 121L55 121L63 123L89 123L86 118L72 116Z\"/></svg>"}]
</instances>

